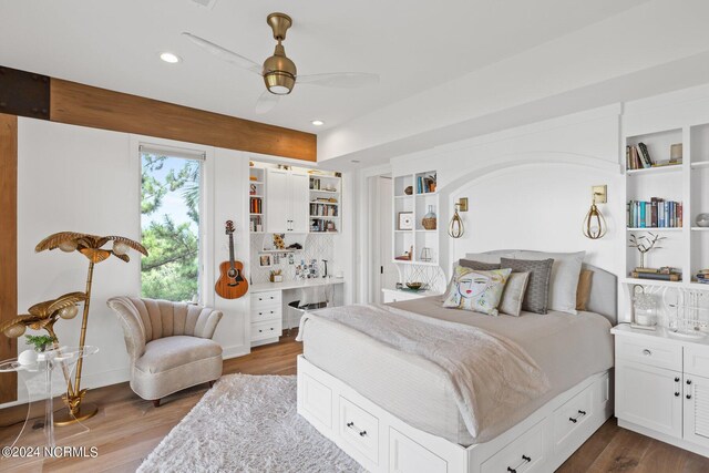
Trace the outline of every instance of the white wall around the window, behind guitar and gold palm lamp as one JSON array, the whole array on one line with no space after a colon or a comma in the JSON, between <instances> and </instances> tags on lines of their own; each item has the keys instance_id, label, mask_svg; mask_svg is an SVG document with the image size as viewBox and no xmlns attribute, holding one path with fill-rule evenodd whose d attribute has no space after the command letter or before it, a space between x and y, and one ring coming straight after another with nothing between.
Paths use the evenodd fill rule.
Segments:
<instances>
[{"instance_id":1,"label":"white wall around the window, behind guitar and gold palm lamp","mask_svg":"<svg viewBox=\"0 0 709 473\"><path fill-rule=\"evenodd\" d=\"M244 153L192 145L174 141L133 136L82 126L20 119L18 168L18 307L61 294L83 290L88 260L60 250L34 253L45 236L63 230L96 235L122 235L141 239L140 157L137 145L157 145L204 150L206 192L203 224L205 243L206 305L224 311L216 341L225 358L248 353L248 298L225 300L214 294L218 264L228 259L224 223L235 222L236 257L246 264L248 275L248 207L244 189L248 181L248 158ZM129 359L123 330L106 307L113 296L140 294L138 255L131 263L111 258L95 266L93 297L86 343L100 352L86 359L82 385L95 388L126 381ZM60 320L56 333L62 345L78 345L81 316ZM23 338L20 350L24 349ZM23 390L20 389L20 395ZM22 399L20 399L22 401Z\"/></svg>"}]
</instances>

